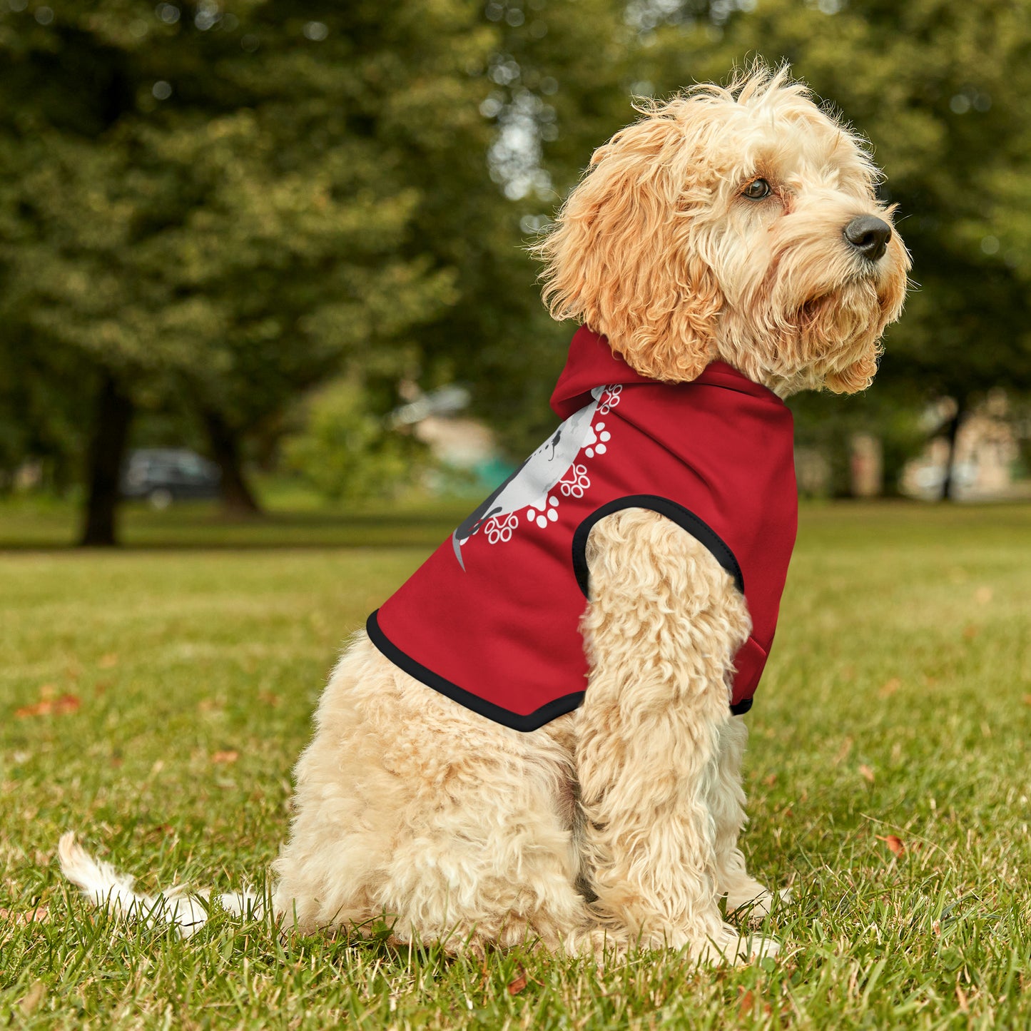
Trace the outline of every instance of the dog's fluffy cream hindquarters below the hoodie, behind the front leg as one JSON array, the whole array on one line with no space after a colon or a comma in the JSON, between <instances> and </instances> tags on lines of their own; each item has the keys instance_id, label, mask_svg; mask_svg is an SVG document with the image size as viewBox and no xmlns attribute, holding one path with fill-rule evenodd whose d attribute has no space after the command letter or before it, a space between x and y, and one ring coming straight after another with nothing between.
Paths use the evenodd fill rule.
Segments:
<instances>
[{"instance_id":1,"label":"dog's fluffy cream hindquarters below the hoodie, behind the front leg","mask_svg":"<svg viewBox=\"0 0 1031 1031\"><path fill-rule=\"evenodd\" d=\"M529 734L502 727L359 634L297 766L276 911L302 931L385 921L395 940L454 952L562 949L589 922L576 891L572 719Z\"/></svg>"}]
</instances>

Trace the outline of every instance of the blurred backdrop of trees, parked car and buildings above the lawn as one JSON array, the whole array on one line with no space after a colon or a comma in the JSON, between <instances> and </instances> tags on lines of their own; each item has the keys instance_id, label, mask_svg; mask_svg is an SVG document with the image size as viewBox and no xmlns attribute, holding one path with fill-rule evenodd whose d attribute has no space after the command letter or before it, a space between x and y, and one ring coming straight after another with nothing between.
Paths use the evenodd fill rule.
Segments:
<instances>
[{"instance_id":1,"label":"blurred backdrop of trees, parked car and buildings above the lawn","mask_svg":"<svg viewBox=\"0 0 1031 1031\"><path fill-rule=\"evenodd\" d=\"M1031 0L0 0L0 541L483 496L573 329L525 248L633 97L756 56L919 285L792 399L802 493L1031 497Z\"/></svg>"}]
</instances>

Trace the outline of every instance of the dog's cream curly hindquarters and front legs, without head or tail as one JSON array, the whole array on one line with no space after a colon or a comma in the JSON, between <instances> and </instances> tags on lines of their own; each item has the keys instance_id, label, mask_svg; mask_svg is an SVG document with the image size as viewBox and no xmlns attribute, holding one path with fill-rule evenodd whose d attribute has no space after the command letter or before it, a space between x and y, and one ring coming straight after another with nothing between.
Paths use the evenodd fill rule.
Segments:
<instances>
[{"instance_id":1,"label":"dog's cream curly hindquarters and front legs, without head or tail","mask_svg":"<svg viewBox=\"0 0 1031 1031\"><path fill-rule=\"evenodd\" d=\"M477 953L772 951L739 941L718 908L742 893L743 810L726 781L743 738L726 679L750 629L743 599L654 512L599 522L588 559L587 697L532 733L436 694L358 635L297 765L277 911L304 931L386 917L401 941ZM732 799L719 822L712 794Z\"/></svg>"}]
</instances>

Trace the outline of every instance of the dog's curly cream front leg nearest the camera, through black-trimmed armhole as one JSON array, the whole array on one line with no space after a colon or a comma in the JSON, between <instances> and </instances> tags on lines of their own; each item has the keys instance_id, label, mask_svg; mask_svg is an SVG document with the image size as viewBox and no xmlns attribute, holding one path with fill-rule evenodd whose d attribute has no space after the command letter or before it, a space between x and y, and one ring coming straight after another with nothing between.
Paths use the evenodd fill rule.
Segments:
<instances>
[{"instance_id":1,"label":"dog's curly cream front leg nearest the camera, through black-trimmed armhole","mask_svg":"<svg viewBox=\"0 0 1031 1031\"><path fill-rule=\"evenodd\" d=\"M710 807L744 600L702 544L641 509L598 523L588 564L576 764L595 906L645 946L770 955L775 943L742 941L721 918Z\"/></svg>"}]
</instances>

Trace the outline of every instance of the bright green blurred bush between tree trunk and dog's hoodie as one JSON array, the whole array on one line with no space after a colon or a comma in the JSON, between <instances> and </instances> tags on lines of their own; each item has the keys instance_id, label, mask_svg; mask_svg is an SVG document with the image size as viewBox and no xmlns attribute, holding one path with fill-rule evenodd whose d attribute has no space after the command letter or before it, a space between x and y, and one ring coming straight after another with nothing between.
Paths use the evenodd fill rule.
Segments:
<instances>
[{"instance_id":1,"label":"bright green blurred bush between tree trunk and dog's hoodie","mask_svg":"<svg viewBox=\"0 0 1031 1031\"><path fill-rule=\"evenodd\" d=\"M327 385L305 408L304 429L284 440L284 458L329 501L390 497L426 465L425 448L387 429L354 379Z\"/></svg>"}]
</instances>

